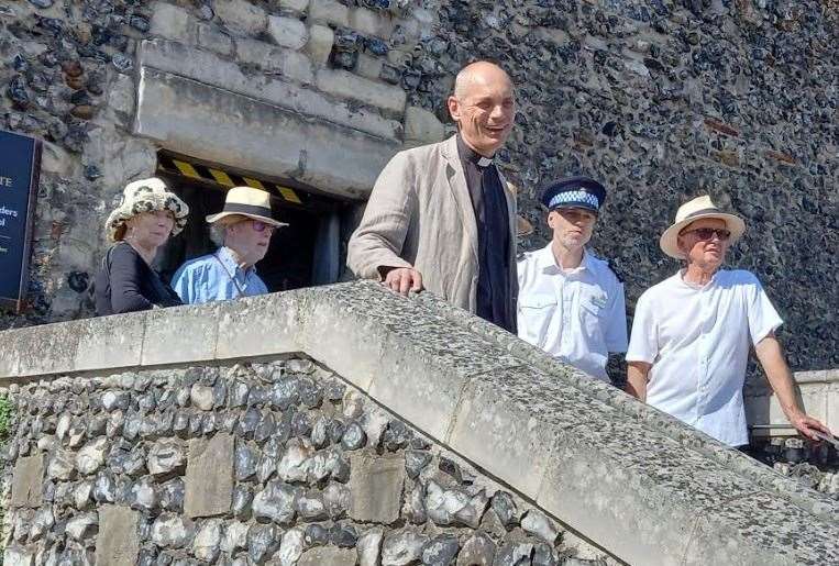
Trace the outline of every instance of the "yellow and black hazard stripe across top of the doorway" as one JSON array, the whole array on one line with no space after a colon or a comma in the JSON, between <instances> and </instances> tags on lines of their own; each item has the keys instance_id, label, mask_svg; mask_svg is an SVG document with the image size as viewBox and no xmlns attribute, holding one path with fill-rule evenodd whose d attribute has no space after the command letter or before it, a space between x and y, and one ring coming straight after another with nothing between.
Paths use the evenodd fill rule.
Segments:
<instances>
[{"instance_id":1,"label":"yellow and black hazard stripe across top of the doorway","mask_svg":"<svg viewBox=\"0 0 839 566\"><path fill-rule=\"evenodd\" d=\"M219 167L210 167L197 163L190 163L173 155L158 154L157 163L164 171L170 175L187 177L192 180L219 185L224 189L231 187L253 187L264 190L280 199L283 204L295 208L316 209L332 208L330 199L318 197L299 189L278 185L264 179L256 179L239 175Z\"/></svg>"}]
</instances>

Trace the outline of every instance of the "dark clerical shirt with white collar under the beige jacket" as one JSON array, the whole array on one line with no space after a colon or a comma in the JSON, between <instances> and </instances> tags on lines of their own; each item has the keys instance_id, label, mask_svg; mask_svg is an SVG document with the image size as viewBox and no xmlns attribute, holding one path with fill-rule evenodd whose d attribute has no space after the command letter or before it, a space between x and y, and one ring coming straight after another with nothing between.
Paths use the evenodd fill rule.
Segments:
<instances>
[{"instance_id":1,"label":"dark clerical shirt with white collar under the beige jacket","mask_svg":"<svg viewBox=\"0 0 839 566\"><path fill-rule=\"evenodd\" d=\"M477 224L476 314L515 334L516 318L509 309L512 288L509 277L511 258L508 257L510 221L501 179L492 159L472 149L460 135L457 153Z\"/></svg>"}]
</instances>

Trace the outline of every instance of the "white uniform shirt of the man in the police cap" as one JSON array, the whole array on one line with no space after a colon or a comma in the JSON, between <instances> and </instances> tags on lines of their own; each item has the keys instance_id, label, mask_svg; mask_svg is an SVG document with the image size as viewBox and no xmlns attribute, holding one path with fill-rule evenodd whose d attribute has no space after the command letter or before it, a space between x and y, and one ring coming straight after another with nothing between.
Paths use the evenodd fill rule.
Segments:
<instances>
[{"instance_id":1,"label":"white uniform shirt of the man in the police cap","mask_svg":"<svg viewBox=\"0 0 839 566\"><path fill-rule=\"evenodd\" d=\"M606 262L584 252L563 270L551 244L518 263L519 337L561 362L608 381L609 352L627 349L623 285Z\"/></svg>"}]
</instances>

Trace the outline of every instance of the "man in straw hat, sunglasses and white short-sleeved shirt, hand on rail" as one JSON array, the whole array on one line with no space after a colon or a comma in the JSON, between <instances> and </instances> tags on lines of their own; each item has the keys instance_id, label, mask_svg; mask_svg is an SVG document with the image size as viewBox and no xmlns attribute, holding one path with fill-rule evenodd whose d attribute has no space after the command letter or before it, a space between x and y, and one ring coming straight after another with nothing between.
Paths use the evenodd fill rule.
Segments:
<instances>
[{"instance_id":1,"label":"man in straw hat, sunglasses and white short-sleeved shirt, hand on rail","mask_svg":"<svg viewBox=\"0 0 839 566\"><path fill-rule=\"evenodd\" d=\"M708 196L680 207L660 245L684 267L638 299L627 389L730 446L748 444L742 387L752 345L790 423L816 440L830 431L798 407L775 339L781 317L752 273L720 269L744 231Z\"/></svg>"}]
</instances>

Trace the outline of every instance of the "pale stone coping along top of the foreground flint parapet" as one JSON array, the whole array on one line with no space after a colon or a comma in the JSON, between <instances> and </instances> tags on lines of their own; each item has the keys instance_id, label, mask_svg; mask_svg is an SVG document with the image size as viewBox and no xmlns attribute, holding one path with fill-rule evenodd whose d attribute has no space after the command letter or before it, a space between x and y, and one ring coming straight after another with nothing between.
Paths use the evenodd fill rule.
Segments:
<instances>
[{"instance_id":1,"label":"pale stone coping along top of the foreground flint parapet","mask_svg":"<svg viewBox=\"0 0 839 566\"><path fill-rule=\"evenodd\" d=\"M627 563L839 562L835 500L430 293L356 281L0 344L0 386L302 352Z\"/></svg>"}]
</instances>

